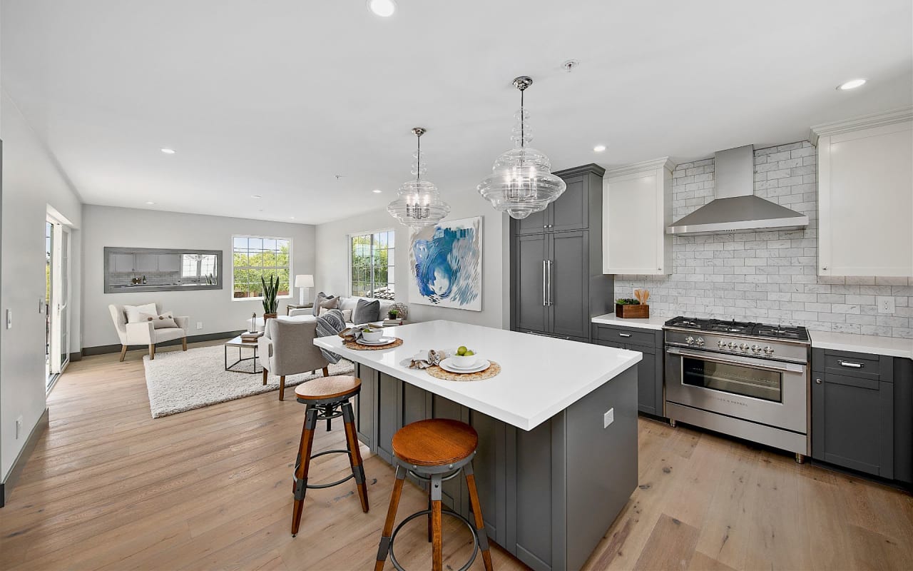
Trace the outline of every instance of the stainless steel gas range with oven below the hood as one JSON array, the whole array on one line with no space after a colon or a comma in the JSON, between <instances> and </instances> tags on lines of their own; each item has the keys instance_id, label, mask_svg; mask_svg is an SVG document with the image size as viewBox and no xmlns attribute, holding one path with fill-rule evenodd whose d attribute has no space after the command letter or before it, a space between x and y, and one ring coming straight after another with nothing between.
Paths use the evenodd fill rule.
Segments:
<instances>
[{"instance_id":1,"label":"stainless steel gas range with oven below the hood","mask_svg":"<svg viewBox=\"0 0 913 571\"><path fill-rule=\"evenodd\" d=\"M666 322L666 417L810 453L804 327L676 317Z\"/></svg>"}]
</instances>

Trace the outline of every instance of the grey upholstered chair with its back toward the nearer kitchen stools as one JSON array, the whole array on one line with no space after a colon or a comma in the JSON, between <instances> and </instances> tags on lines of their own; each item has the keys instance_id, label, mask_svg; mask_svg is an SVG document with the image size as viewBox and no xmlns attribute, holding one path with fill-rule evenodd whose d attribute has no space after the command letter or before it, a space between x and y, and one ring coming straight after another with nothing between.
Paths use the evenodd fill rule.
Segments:
<instances>
[{"instance_id":1,"label":"grey upholstered chair with its back toward the nearer kitchen stools","mask_svg":"<svg viewBox=\"0 0 913 571\"><path fill-rule=\"evenodd\" d=\"M263 367L263 384L270 373L279 375L279 400L285 400L286 375L323 369L330 376L330 363L314 346L315 321L268 319L263 336L257 340L257 357Z\"/></svg>"}]
</instances>

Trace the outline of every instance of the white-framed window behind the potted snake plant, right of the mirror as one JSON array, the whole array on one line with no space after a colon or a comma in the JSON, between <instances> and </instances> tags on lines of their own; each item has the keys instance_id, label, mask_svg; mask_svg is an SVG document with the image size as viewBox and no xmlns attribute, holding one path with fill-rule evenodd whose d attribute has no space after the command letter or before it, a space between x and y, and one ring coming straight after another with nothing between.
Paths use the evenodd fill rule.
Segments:
<instances>
[{"instance_id":1,"label":"white-framed window behind the potted snake plant, right of the mirror","mask_svg":"<svg viewBox=\"0 0 913 571\"><path fill-rule=\"evenodd\" d=\"M232 299L263 299L260 279L278 277L279 298L291 297L291 238L232 237Z\"/></svg>"}]
</instances>

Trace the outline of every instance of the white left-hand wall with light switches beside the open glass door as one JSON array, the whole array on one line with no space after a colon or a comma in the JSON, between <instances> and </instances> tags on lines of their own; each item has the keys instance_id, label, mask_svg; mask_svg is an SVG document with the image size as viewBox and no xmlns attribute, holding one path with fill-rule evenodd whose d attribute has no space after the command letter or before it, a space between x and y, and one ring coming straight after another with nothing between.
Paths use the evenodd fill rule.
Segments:
<instances>
[{"instance_id":1,"label":"white left-hand wall with light switches beside the open glass door","mask_svg":"<svg viewBox=\"0 0 913 571\"><path fill-rule=\"evenodd\" d=\"M45 219L53 206L73 226L81 223L79 196L61 174L16 105L2 93L3 139L2 306L13 312L13 329L0 329L0 477L4 480L46 407ZM79 323L79 230L72 234L70 323ZM79 346L78 327L70 332L70 351ZM16 439L16 418L23 429Z\"/></svg>"}]
</instances>

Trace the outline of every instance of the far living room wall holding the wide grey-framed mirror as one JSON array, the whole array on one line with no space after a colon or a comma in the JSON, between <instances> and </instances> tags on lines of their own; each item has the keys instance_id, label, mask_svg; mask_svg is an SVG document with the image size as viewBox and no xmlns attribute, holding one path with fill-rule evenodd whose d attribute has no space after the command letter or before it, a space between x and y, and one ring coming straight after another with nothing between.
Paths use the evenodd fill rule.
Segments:
<instances>
[{"instance_id":1,"label":"far living room wall holding the wide grey-framed mirror","mask_svg":"<svg viewBox=\"0 0 913 571\"><path fill-rule=\"evenodd\" d=\"M83 347L120 344L111 323L108 305L136 305L160 301L164 310L191 318L191 335L238 331L252 312L263 313L260 301L234 301L231 290L231 238L233 235L292 239L292 275L314 273L314 227L305 224L210 217L135 208L86 205L83 225ZM104 248L193 248L223 251L221 290L104 292ZM293 278L294 279L294 278ZM288 301L279 300L279 312ZM203 322L203 329L195 329Z\"/></svg>"}]
</instances>

